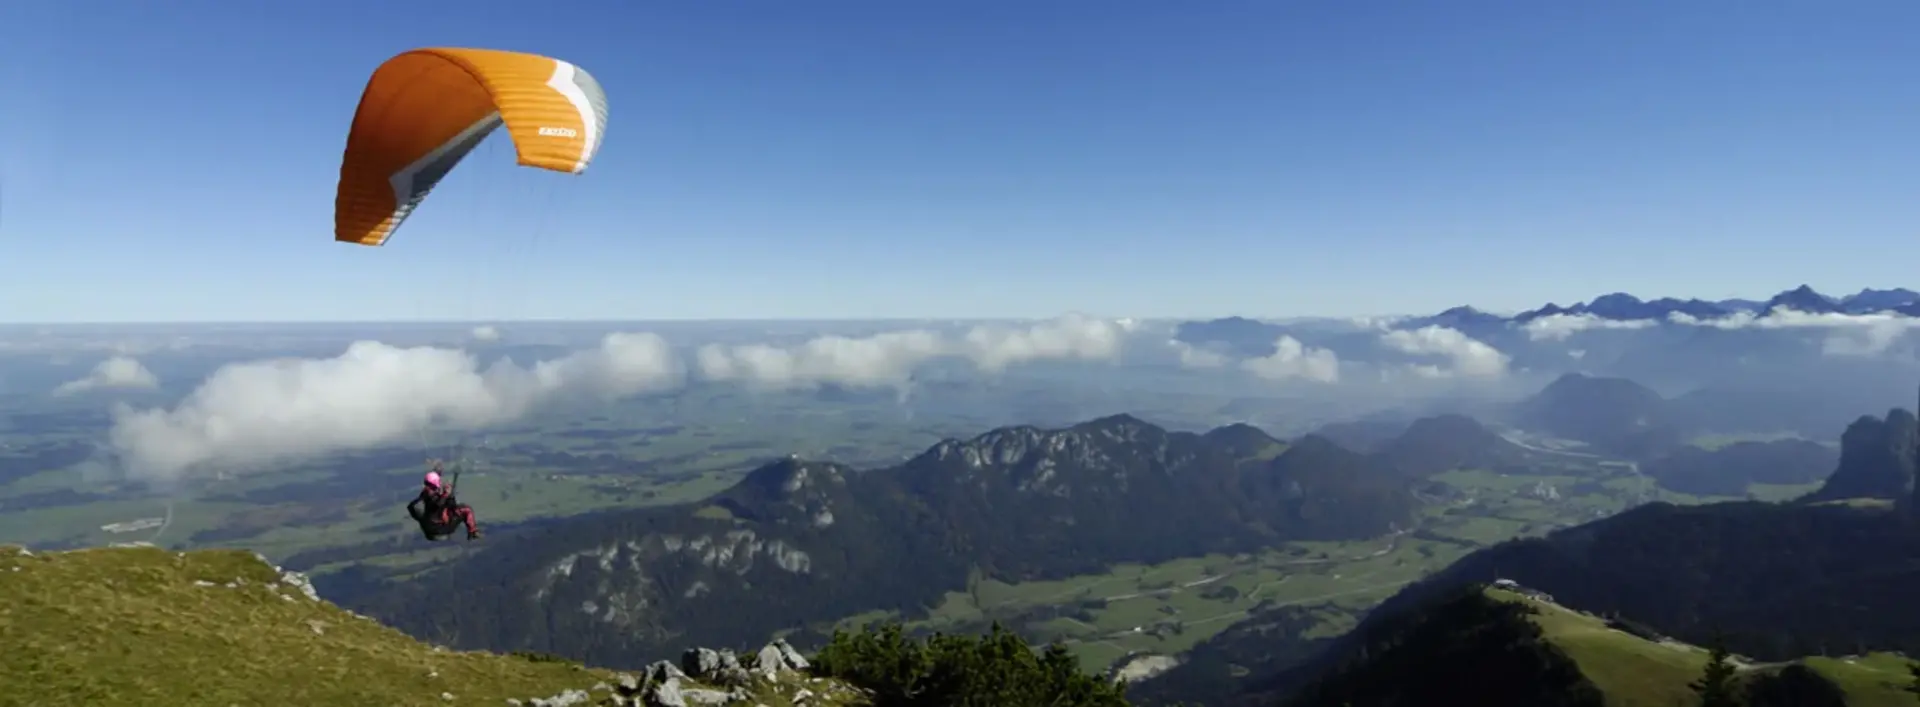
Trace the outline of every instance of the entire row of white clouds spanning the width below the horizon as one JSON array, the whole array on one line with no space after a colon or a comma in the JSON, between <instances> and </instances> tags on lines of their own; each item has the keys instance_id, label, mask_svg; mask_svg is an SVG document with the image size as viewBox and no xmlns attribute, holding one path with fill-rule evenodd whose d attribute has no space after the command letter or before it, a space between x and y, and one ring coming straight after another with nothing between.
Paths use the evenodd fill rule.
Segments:
<instances>
[{"instance_id":1,"label":"entire row of white clouds spanning the width below the horizon","mask_svg":"<svg viewBox=\"0 0 1920 707\"><path fill-rule=\"evenodd\" d=\"M1369 384L1377 371L1382 382L1400 390L1411 382L1404 375L1486 382L1511 380L1515 371L1548 375L1563 367L1613 365L1609 361L1617 359L1617 348L1603 346L1605 340L1594 340L1601 344L1599 350L1586 344L1563 346L1582 332L1599 336L1613 330L1626 336L1630 330L1676 327L1803 330L1824 338L1816 342L1826 355L1884 355L1899 350L1908 332L1920 329L1920 319L1776 311L1766 317L1711 321L1674 315L1661 327L1657 321L1617 323L1561 315L1524 327L1471 329L1475 334L1438 325L1357 325L1371 329L1292 330L1273 340L1271 354L1252 357L1229 355L1213 346L1169 342L1169 332L1152 325L1085 315L1029 325L904 329L689 350L674 350L657 334L620 332L564 357L538 363L499 359L492 365L482 365L463 350L357 342L336 357L223 367L171 409L115 405L109 442L131 475L179 478L202 469L248 471L276 461L369 450L415 440L432 428L482 428L563 400L664 392L689 380L760 390L849 386L904 392L914 384L914 375L933 361L998 373L1037 361L1119 361L1131 342L1148 342L1156 344L1148 354L1164 355L1162 361L1177 359L1187 369L1288 384ZM474 340L497 334L490 327L472 330ZM1693 344L1668 336L1659 346ZM1596 354L1588 355L1590 352ZM1517 357L1523 363L1515 363ZM1642 357L1644 361L1665 357ZM115 357L86 378L61 386L60 394L154 384L157 380L138 361Z\"/></svg>"}]
</instances>

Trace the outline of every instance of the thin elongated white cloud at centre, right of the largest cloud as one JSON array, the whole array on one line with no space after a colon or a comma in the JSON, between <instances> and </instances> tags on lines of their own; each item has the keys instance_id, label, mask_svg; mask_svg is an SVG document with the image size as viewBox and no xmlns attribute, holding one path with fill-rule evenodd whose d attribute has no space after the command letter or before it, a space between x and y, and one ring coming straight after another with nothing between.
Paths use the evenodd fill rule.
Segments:
<instances>
[{"instance_id":1,"label":"thin elongated white cloud at centre, right of the largest cloud","mask_svg":"<svg viewBox=\"0 0 1920 707\"><path fill-rule=\"evenodd\" d=\"M981 371L1041 359L1102 361L1119 355L1131 321L1066 315L1031 327L973 327L958 338L912 329L874 336L820 336L799 346L703 346L695 367L708 380L739 380L766 388L818 384L904 388L914 369L943 357L972 361Z\"/></svg>"}]
</instances>

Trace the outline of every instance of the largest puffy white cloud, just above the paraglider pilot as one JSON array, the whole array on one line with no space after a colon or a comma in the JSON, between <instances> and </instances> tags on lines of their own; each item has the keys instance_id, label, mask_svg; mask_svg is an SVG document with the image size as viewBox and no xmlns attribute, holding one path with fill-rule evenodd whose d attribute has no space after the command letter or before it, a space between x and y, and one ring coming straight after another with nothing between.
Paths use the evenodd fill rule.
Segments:
<instances>
[{"instance_id":1,"label":"largest puffy white cloud, just above the paraglider pilot","mask_svg":"<svg viewBox=\"0 0 1920 707\"><path fill-rule=\"evenodd\" d=\"M330 359L221 367L173 409L117 405L109 442L127 471L177 478L474 428L574 394L630 396L684 378L655 334L609 334L599 348L518 367L480 369L465 352L355 342Z\"/></svg>"}]
</instances>

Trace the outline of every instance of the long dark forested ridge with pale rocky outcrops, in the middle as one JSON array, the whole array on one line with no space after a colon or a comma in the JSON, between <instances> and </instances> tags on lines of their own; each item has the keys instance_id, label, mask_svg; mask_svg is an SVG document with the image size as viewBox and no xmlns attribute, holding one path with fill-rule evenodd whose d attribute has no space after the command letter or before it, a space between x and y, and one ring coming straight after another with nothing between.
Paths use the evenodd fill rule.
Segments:
<instances>
[{"instance_id":1,"label":"long dark forested ridge with pale rocky outcrops, in the middle","mask_svg":"<svg viewBox=\"0 0 1920 707\"><path fill-rule=\"evenodd\" d=\"M1442 451L1394 453L1478 453ZM925 615L981 578L1382 536L1419 505L1394 459L1244 425L1194 434L1114 415L1008 427L889 469L789 457L701 503L551 523L401 582L357 567L324 576L323 592L428 640L597 665L657 659L684 636L820 642L841 617ZM430 590L449 584L468 590Z\"/></svg>"}]
</instances>

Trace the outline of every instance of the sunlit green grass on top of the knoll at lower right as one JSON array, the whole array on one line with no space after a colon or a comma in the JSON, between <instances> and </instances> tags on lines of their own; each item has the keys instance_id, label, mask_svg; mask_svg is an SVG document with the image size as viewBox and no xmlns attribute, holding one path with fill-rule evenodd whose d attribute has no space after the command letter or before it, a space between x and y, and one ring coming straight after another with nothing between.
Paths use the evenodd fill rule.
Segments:
<instances>
[{"instance_id":1,"label":"sunlit green grass on top of the knoll at lower right","mask_svg":"<svg viewBox=\"0 0 1920 707\"><path fill-rule=\"evenodd\" d=\"M1607 695L1609 707L1670 707L1690 705L1699 697L1688 688L1707 667L1707 649L1678 642L1649 642L1607 628L1599 617L1540 601L1515 592L1486 590L1503 601L1526 603L1538 613L1532 621L1548 642L1567 651L1580 672ZM1907 686L1907 661L1897 655L1872 653L1859 659L1807 657L1809 669L1834 680L1847 705L1907 707L1914 695ZM1743 667L1743 674L1778 670L1782 665Z\"/></svg>"}]
</instances>

